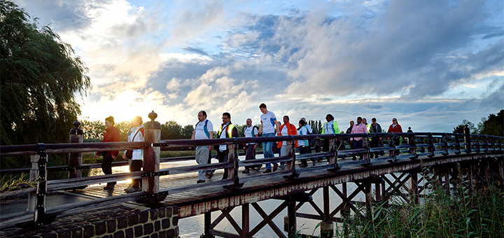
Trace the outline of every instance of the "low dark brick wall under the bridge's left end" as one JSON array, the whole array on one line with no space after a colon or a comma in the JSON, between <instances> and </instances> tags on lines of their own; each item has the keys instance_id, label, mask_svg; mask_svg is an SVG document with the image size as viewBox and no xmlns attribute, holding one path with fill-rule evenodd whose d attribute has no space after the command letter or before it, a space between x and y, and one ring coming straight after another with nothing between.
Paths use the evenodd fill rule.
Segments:
<instances>
[{"instance_id":1,"label":"low dark brick wall under the bridge's left end","mask_svg":"<svg viewBox=\"0 0 504 238\"><path fill-rule=\"evenodd\" d=\"M5 228L0 237L12 238L176 238L179 208L118 204L85 211L39 228Z\"/></svg>"}]
</instances>

